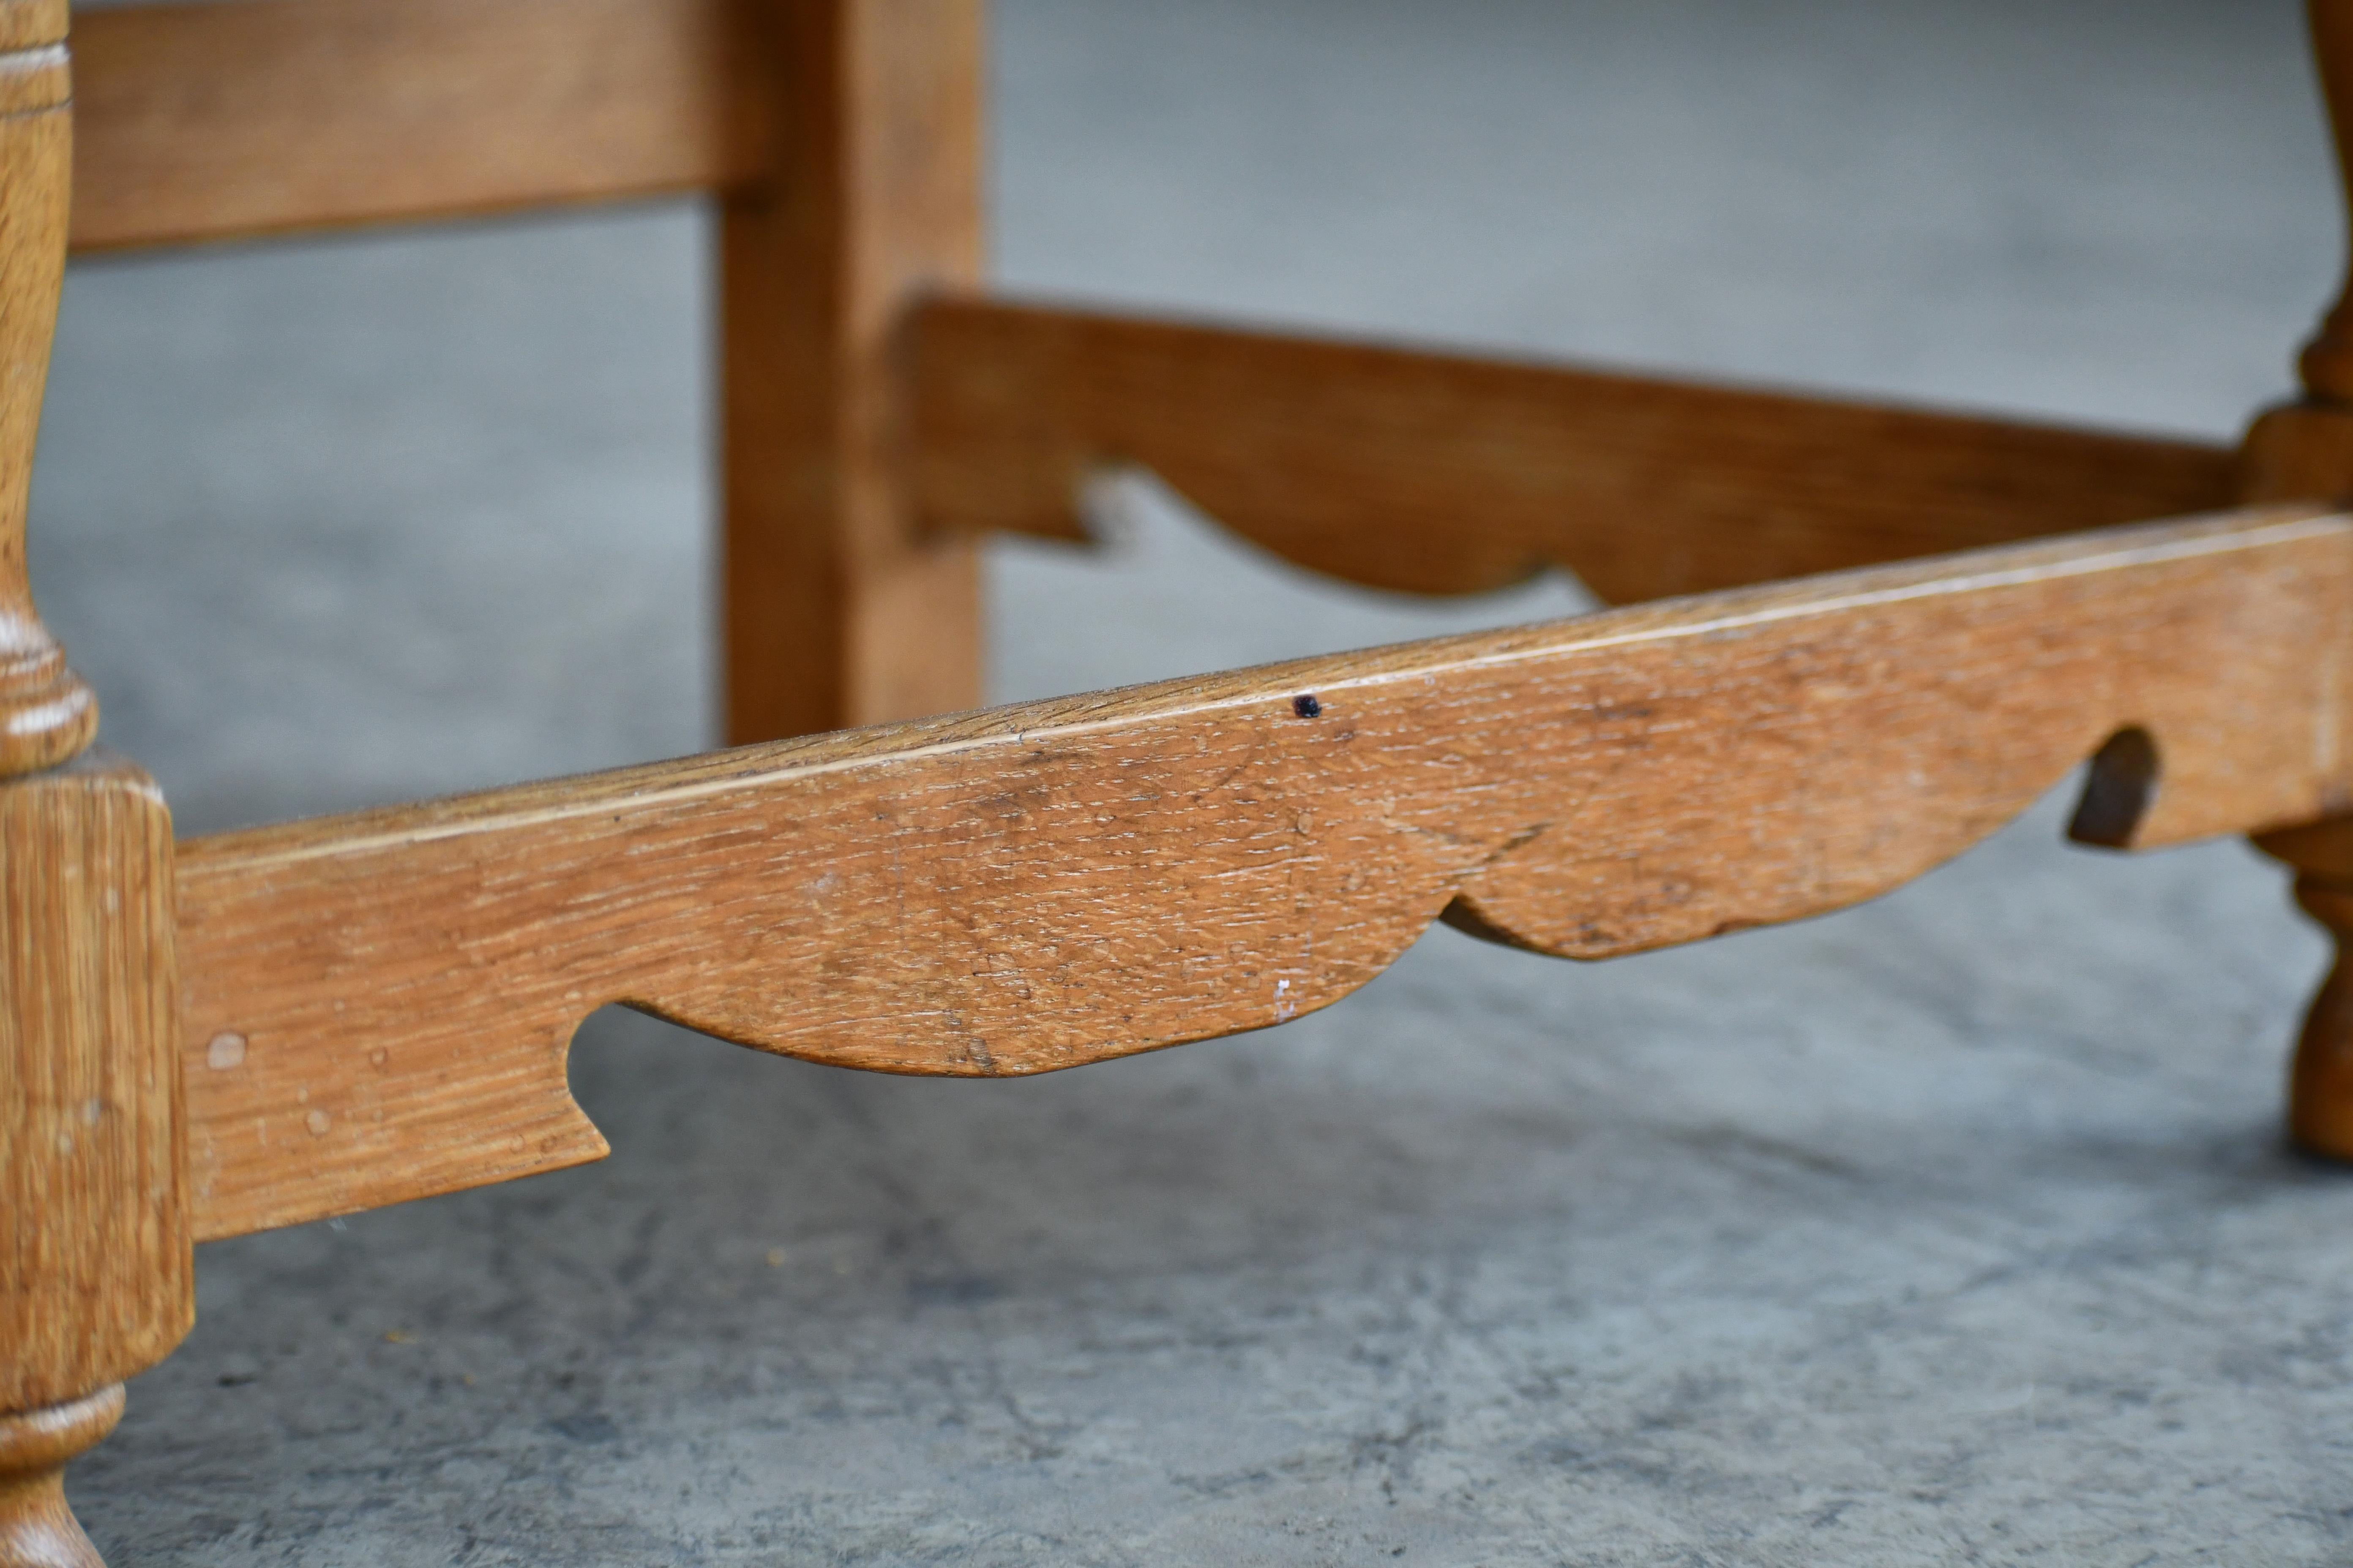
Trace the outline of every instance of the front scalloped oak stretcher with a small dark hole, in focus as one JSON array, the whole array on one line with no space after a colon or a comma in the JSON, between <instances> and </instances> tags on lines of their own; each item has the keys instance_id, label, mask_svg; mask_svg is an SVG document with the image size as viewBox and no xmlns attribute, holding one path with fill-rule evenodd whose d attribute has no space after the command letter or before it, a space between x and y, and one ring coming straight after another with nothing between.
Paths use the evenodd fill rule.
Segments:
<instances>
[{"instance_id":1,"label":"front scalloped oak stretcher with a small dark hole, in focus","mask_svg":"<svg viewBox=\"0 0 2353 1568\"><path fill-rule=\"evenodd\" d=\"M607 1001L1024 1074L1327 1006L1440 912L1600 959L1852 905L2120 731L2160 783L2085 837L2311 820L2348 632L2353 522L2252 512L195 839L198 1229L595 1159Z\"/></svg>"}]
</instances>

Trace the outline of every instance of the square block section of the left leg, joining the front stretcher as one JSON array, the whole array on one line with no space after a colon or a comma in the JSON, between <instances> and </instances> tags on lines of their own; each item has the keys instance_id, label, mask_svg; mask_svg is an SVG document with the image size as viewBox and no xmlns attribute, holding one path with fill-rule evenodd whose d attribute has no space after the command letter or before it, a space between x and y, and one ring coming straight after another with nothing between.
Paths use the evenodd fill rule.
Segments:
<instances>
[{"instance_id":1,"label":"square block section of the left leg, joining the front stretcher","mask_svg":"<svg viewBox=\"0 0 2353 1568\"><path fill-rule=\"evenodd\" d=\"M0 785L0 1410L160 1361L193 1321L172 818L120 757Z\"/></svg>"}]
</instances>

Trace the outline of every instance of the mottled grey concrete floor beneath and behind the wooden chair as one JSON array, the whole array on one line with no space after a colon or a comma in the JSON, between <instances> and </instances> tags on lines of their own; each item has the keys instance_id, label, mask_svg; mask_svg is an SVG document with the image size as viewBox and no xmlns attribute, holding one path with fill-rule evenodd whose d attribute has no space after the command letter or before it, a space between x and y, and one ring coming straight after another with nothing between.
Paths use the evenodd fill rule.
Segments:
<instances>
[{"instance_id":1,"label":"mottled grey concrete floor beneath and behind the wooden chair","mask_svg":"<svg viewBox=\"0 0 2353 1568\"><path fill-rule=\"evenodd\" d=\"M2228 435L2341 249L2289 0L1000 0L1009 287ZM82 266L35 583L205 830L706 743L704 214ZM1000 548L1028 696L1562 614L1148 484ZM602 1166L207 1246L115 1563L2329 1563L2322 947L2047 802L1607 966L1426 938L1019 1084L628 1013Z\"/></svg>"}]
</instances>

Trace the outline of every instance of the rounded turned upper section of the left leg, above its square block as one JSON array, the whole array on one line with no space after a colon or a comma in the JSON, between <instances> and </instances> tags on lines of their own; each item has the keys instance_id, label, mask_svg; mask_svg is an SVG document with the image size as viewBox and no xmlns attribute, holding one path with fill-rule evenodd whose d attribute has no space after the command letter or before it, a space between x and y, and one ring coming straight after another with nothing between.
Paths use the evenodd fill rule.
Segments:
<instances>
[{"instance_id":1,"label":"rounded turned upper section of the left leg, above its square block","mask_svg":"<svg viewBox=\"0 0 2353 1568\"><path fill-rule=\"evenodd\" d=\"M61 5L0 5L0 776L64 762L89 745L99 703L33 611L24 567L33 437L49 378L56 292L66 270L73 167Z\"/></svg>"}]
</instances>

